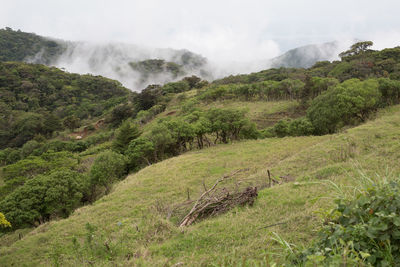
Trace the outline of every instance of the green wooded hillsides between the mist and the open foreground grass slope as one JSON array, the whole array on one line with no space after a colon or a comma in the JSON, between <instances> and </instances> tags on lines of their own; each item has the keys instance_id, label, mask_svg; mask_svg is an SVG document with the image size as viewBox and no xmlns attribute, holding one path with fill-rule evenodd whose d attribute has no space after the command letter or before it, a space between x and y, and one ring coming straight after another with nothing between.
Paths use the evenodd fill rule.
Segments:
<instances>
[{"instance_id":1,"label":"green wooded hillsides between the mist and the open foreground grass slope","mask_svg":"<svg viewBox=\"0 0 400 267\"><path fill-rule=\"evenodd\" d=\"M14 51L0 40L6 48L0 59L37 53L29 42ZM191 76L141 93L100 76L0 62L2 231L68 217L109 194L127 174L187 151L244 139L333 134L366 122L400 103L400 47L375 51L371 45L356 43L340 61L308 69L269 69L211 83ZM181 72L162 60L131 67ZM224 106L239 101L295 107L264 125L249 109Z\"/></svg>"}]
</instances>

